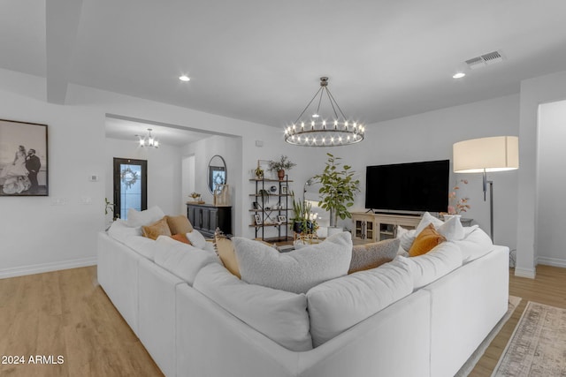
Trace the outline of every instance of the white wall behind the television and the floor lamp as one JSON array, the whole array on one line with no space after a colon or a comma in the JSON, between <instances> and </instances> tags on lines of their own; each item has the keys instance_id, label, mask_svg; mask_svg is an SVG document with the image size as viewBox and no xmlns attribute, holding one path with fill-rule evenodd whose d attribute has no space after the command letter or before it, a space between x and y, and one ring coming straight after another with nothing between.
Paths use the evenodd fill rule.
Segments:
<instances>
[{"instance_id":1,"label":"white wall behind the television and the floor lamp","mask_svg":"<svg viewBox=\"0 0 566 377\"><path fill-rule=\"evenodd\" d=\"M430 111L368 125L366 140L345 161L363 172L360 176L363 188L367 165L448 159L452 170L452 145L456 141L516 136L518 124L518 94ZM511 249L516 248L517 177L516 170L488 174L493 180L494 242ZM470 197L471 209L463 217L473 218L489 233L489 193L484 201L481 175L451 173L451 185L456 179L469 181L458 192L458 197ZM363 210L363 199L363 192L357 195L355 208Z\"/></svg>"}]
</instances>

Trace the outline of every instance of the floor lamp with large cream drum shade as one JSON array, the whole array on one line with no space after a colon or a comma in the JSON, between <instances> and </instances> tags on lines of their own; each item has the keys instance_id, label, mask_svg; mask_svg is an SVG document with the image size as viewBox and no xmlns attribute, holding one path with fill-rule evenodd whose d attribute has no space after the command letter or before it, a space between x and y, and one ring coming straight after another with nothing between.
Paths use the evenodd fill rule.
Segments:
<instances>
[{"instance_id":1,"label":"floor lamp with large cream drum shade","mask_svg":"<svg viewBox=\"0 0 566 377\"><path fill-rule=\"evenodd\" d=\"M459 141L452 152L455 173L483 173L484 201L489 185L489 230L493 241L493 181L487 180L487 173L519 169L519 138L495 136Z\"/></svg>"}]
</instances>

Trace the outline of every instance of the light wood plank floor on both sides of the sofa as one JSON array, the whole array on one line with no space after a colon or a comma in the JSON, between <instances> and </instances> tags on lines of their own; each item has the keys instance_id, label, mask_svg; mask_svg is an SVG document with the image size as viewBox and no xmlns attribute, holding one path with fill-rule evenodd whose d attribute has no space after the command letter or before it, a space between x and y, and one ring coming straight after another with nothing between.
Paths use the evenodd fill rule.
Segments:
<instances>
[{"instance_id":1,"label":"light wood plank floor on both sides of the sofa","mask_svg":"<svg viewBox=\"0 0 566 377\"><path fill-rule=\"evenodd\" d=\"M528 301L566 308L566 268L539 266L535 280L510 270L509 293L523 300L470 376L491 375ZM0 280L2 355L65 361L0 364L1 376L163 375L96 283L96 267Z\"/></svg>"}]
</instances>

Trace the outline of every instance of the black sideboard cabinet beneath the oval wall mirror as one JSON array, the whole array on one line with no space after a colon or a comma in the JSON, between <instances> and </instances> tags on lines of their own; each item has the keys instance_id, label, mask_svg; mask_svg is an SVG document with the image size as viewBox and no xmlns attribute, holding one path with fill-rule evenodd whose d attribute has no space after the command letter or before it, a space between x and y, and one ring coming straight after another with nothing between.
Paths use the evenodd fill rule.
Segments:
<instances>
[{"instance_id":1,"label":"black sideboard cabinet beneath the oval wall mirror","mask_svg":"<svg viewBox=\"0 0 566 377\"><path fill-rule=\"evenodd\" d=\"M187 218L195 230L206 238L213 238L219 228L225 234L232 234L232 207L212 204L187 203Z\"/></svg>"}]
</instances>

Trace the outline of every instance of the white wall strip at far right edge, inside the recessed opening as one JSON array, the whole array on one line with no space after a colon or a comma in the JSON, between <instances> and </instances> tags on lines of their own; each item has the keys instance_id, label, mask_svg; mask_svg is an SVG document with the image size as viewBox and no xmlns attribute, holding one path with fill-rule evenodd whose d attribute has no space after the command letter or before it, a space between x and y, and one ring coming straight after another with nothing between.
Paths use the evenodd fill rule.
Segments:
<instances>
[{"instance_id":1,"label":"white wall strip at far right edge, inside the recessed opening","mask_svg":"<svg viewBox=\"0 0 566 377\"><path fill-rule=\"evenodd\" d=\"M566 213L566 200L563 199L566 187L565 122L565 101L540 106L536 250L539 263L562 268L566 268L566 233L563 231Z\"/></svg>"}]
</instances>

